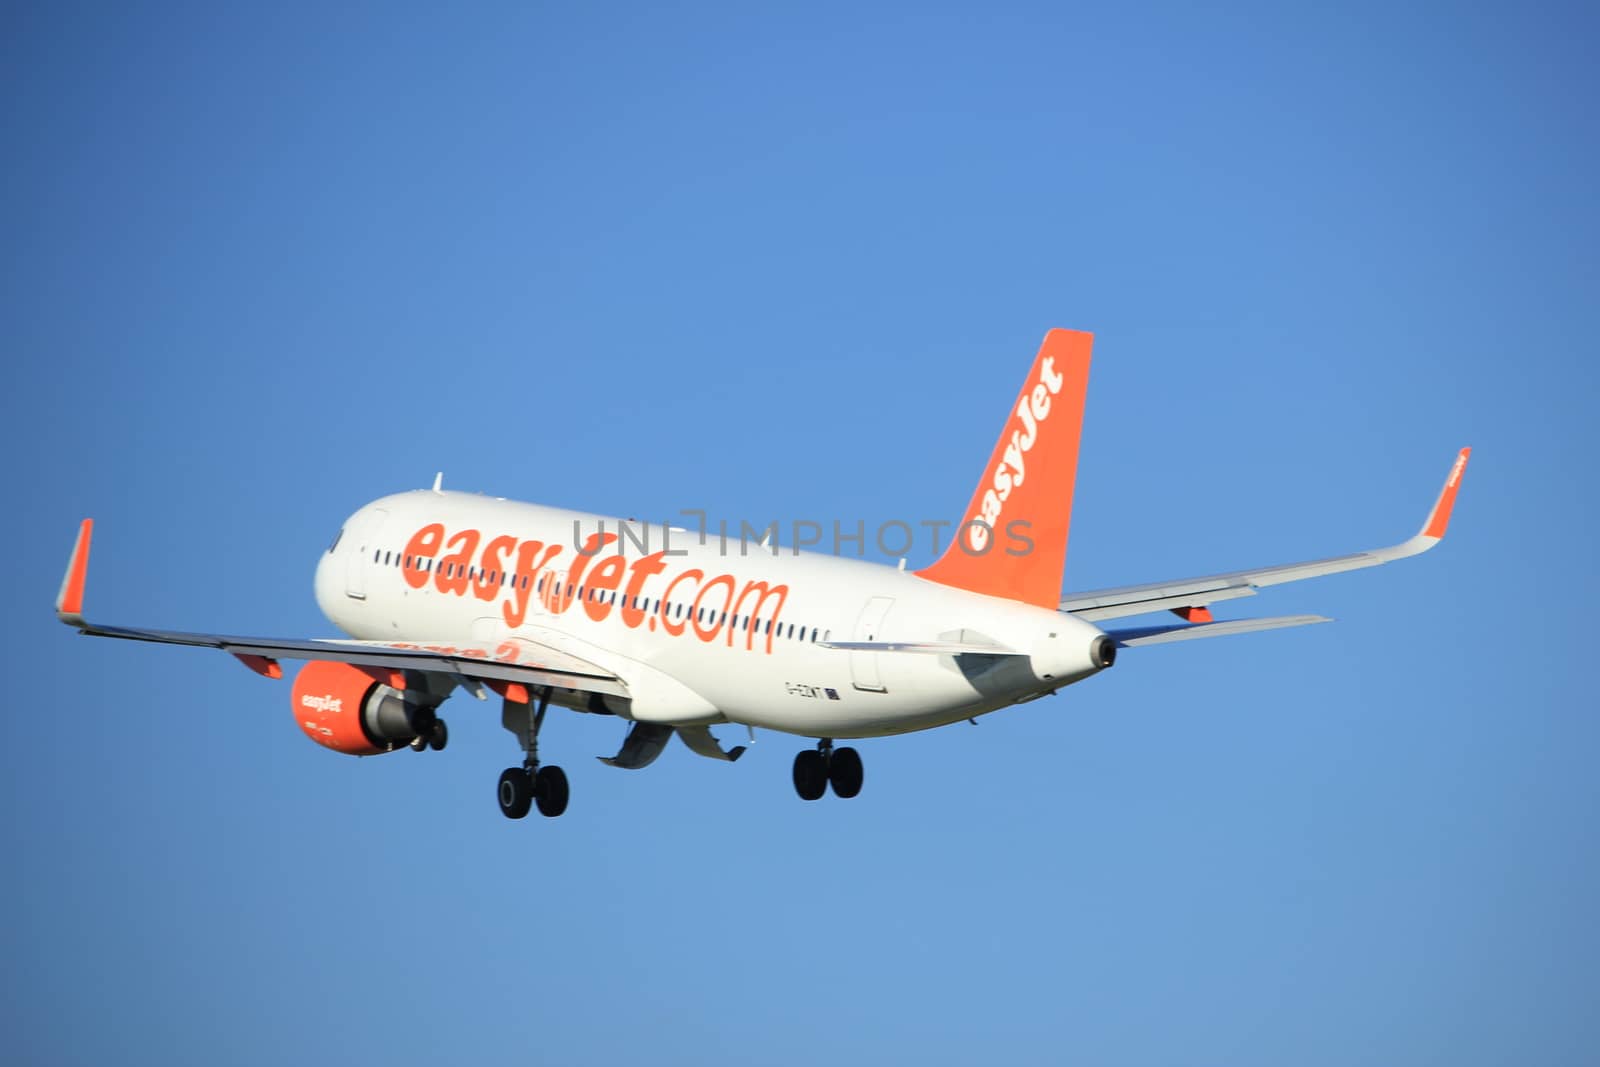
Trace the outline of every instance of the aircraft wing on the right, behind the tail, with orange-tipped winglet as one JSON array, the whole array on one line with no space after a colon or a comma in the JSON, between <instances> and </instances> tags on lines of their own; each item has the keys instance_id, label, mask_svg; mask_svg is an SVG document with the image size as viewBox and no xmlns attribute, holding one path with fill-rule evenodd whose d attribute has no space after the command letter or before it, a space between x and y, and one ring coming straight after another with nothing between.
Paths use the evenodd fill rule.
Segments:
<instances>
[{"instance_id":1,"label":"aircraft wing on the right, behind the tail, with orange-tipped winglet","mask_svg":"<svg viewBox=\"0 0 1600 1067\"><path fill-rule=\"evenodd\" d=\"M1229 574L1181 577L1168 582L1150 582L1147 585L1123 585L1122 589L1096 589L1083 593L1070 593L1061 601L1061 611L1072 613L1090 622L1144 614L1147 611L1176 611L1190 621L1205 622L1210 621L1210 613L1203 611L1206 605L1235 597L1251 597L1262 585L1280 585L1306 577L1378 566L1379 563L1427 552L1443 539L1445 530L1450 526L1450 512L1456 506L1461 474L1467 469L1467 456L1470 454L1470 448L1461 450L1454 466L1450 469L1450 477L1445 480L1445 488L1440 490L1434 509L1427 514L1427 522L1422 523L1422 530L1414 537L1400 544L1389 545L1387 549L1336 555L1326 560L1309 560L1306 563L1285 563L1282 566L1262 566L1248 571L1232 571Z\"/></svg>"}]
</instances>

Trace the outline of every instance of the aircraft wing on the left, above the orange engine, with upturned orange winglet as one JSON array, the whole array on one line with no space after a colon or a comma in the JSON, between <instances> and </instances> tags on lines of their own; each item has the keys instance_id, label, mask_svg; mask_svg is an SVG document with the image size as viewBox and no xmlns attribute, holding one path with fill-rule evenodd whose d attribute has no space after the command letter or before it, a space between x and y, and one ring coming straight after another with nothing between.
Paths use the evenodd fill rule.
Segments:
<instances>
[{"instance_id":1,"label":"aircraft wing on the left, above the orange engine, with upturned orange winglet","mask_svg":"<svg viewBox=\"0 0 1600 1067\"><path fill-rule=\"evenodd\" d=\"M219 648L235 656L259 675L282 678L280 659L325 659L381 667L387 670L432 670L454 678L486 681L490 688L507 685L533 688L552 686L627 696L627 686L610 670L586 659L523 638L509 638L496 648L456 648L453 645L418 645L410 641L352 641L293 637L238 637L230 633L189 633L182 630L147 630L123 625L99 625L83 617L83 585L88 577L90 539L94 522L83 520L67 574L56 595L56 617L90 637L118 637L160 645L194 645Z\"/></svg>"}]
</instances>

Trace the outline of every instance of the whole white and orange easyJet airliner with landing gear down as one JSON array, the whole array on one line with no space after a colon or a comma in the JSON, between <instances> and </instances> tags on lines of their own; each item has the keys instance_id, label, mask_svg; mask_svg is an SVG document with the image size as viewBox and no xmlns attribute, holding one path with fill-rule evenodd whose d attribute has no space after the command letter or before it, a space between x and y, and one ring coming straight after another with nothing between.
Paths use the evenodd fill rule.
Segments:
<instances>
[{"instance_id":1,"label":"whole white and orange easyJet airliner with landing gear down","mask_svg":"<svg viewBox=\"0 0 1600 1067\"><path fill-rule=\"evenodd\" d=\"M219 648L269 678L304 661L290 694L317 744L357 757L442 750L438 709L493 693L522 745L502 814L566 811L560 766L539 761L550 707L629 723L602 761L648 766L677 736L733 761L712 726L816 739L794 760L802 800L861 792L858 741L931 729L1050 696L1123 648L1328 622L1219 621L1211 606L1283 582L1376 566L1445 536L1462 448L1421 531L1325 560L1062 595L1093 334L1051 330L950 544L930 566L718 539L446 491L413 490L350 515L317 563L315 597L344 638L274 638L99 625L83 616L93 520L74 544L56 616L93 637ZM578 542L578 533L589 530ZM650 534L661 537L651 544ZM675 534L675 536L674 536ZM702 531L704 534L704 531ZM632 552L630 552L632 550ZM1110 619L1171 613L1120 629Z\"/></svg>"}]
</instances>

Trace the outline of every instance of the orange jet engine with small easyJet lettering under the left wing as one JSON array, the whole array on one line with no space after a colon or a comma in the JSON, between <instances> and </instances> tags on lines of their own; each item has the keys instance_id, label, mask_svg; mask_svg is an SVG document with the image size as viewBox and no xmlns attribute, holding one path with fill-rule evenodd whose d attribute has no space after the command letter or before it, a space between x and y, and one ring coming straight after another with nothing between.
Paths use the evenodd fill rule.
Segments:
<instances>
[{"instance_id":1,"label":"orange jet engine with small easyJet lettering under the left wing","mask_svg":"<svg viewBox=\"0 0 1600 1067\"><path fill-rule=\"evenodd\" d=\"M398 670L312 659L294 675L294 720L325 749L347 755L394 752L426 736L434 704L406 699Z\"/></svg>"}]
</instances>

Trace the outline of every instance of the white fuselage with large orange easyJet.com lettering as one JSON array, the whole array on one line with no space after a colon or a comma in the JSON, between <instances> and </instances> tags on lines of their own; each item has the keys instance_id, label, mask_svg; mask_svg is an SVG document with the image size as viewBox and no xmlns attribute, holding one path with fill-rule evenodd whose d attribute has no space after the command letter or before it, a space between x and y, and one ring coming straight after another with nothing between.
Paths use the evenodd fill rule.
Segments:
<instances>
[{"instance_id":1,"label":"white fuselage with large orange easyJet.com lettering","mask_svg":"<svg viewBox=\"0 0 1600 1067\"><path fill-rule=\"evenodd\" d=\"M1101 632L1069 614L861 560L720 544L694 531L419 490L355 512L317 568L317 603L358 640L491 657L555 648L616 673L640 721L810 737L909 733L1096 673ZM574 537L574 528L578 536ZM645 545L637 544L648 536ZM576 544L594 550L581 553ZM525 641L525 643L523 643ZM1022 656L846 651L955 641ZM595 709L570 694L557 702Z\"/></svg>"}]
</instances>

